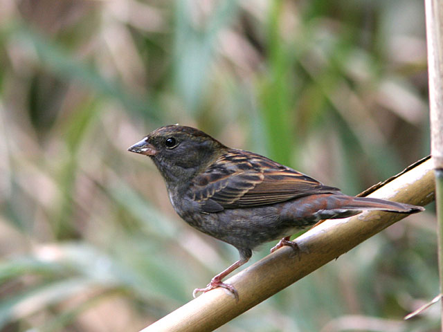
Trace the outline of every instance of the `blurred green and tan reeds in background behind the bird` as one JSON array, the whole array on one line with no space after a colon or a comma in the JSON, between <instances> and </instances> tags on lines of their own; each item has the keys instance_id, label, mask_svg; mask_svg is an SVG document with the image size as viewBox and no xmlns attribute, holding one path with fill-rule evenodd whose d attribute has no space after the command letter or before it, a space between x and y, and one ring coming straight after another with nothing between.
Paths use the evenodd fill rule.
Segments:
<instances>
[{"instance_id":1,"label":"blurred green and tan reeds in background behind the bird","mask_svg":"<svg viewBox=\"0 0 443 332\"><path fill-rule=\"evenodd\" d=\"M347 194L426 156L425 37L418 0L0 0L0 330L137 331L237 260L127 151L161 125ZM402 320L437 293L428 206L217 331L440 331Z\"/></svg>"}]
</instances>

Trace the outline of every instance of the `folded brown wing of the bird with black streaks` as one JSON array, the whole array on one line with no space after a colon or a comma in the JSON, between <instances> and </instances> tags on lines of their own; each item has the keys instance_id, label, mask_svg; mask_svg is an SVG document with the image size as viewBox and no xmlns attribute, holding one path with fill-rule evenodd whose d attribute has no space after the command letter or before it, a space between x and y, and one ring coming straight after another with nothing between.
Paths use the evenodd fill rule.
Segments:
<instances>
[{"instance_id":1,"label":"folded brown wing of the bird with black streaks","mask_svg":"<svg viewBox=\"0 0 443 332\"><path fill-rule=\"evenodd\" d=\"M217 212L339 190L264 156L231 149L194 179L191 191L204 211Z\"/></svg>"}]
</instances>

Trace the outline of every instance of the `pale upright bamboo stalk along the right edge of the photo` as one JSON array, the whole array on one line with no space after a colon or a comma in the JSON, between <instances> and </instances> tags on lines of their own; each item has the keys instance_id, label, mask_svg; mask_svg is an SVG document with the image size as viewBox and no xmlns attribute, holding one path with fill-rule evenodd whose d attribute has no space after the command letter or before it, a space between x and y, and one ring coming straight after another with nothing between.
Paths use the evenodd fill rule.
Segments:
<instances>
[{"instance_id":1,"label":"pale upright bamboo stalk along the right edge of the photo","mask_svg":"<svg viewBox=\"0 0 443 332\"><path fill-rule=\"evenodd\" d=\"M431 154L434 160L437 250L440 293L443 291L443 3L426 0L426 37L428 46L429 106L431 118ZM443 322L443 306L440 316ZM443 331L443 324L441 325Z\"/></svg>"}]
</instances>

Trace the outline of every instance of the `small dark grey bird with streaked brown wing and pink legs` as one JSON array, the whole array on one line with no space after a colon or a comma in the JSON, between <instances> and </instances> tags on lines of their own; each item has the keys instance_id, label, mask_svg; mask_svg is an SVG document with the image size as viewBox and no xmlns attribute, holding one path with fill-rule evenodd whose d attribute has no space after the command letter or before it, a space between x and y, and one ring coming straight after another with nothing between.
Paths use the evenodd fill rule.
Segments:
<instances>
[{"instance_id":1,"label":"small dark grey bird with streaked brown wing and pink legs","mask_svg":"<svg viewBox=\"0 0 443 332\"><path fill-rule=\"evenodd\" d=\"M168 196L181 219L205 234L231 244L239 260L213 277L206 293L226 288L238 301L235 287L224 277L269 241L298 250L292 234L323 219L341 219L364 210L412 214L421 206L383 199L354 197L336 187L265 156L226 147L207 133L178 124L160 127L128 148L151 158L163 176Z\"/></svg>"}]
</instances>

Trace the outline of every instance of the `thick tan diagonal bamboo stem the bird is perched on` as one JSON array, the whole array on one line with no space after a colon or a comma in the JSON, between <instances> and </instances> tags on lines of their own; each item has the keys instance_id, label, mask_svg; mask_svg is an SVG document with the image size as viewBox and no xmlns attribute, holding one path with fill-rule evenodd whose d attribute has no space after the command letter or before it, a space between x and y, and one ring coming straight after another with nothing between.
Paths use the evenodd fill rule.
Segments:
<instances>
[{"instance_id":1,"label":"thick tan diagonal bamboo stem the bird is perched on","mask_svg":"<svg viewBox=\"0 0 443 332\"><path fill-rule=\"evenodd\" d=\"M426 205L434 199L432 169L432 160L424 160L369 196ZM405 216L372 211L327 220L296 239L302 249L300 257L295 257L292 248L284 247L230 277L227 282L237 289L239 302L223 288L216 288L142 331L213 331Z\"/></svg>"}]
</instances>

